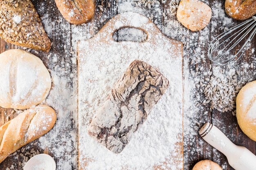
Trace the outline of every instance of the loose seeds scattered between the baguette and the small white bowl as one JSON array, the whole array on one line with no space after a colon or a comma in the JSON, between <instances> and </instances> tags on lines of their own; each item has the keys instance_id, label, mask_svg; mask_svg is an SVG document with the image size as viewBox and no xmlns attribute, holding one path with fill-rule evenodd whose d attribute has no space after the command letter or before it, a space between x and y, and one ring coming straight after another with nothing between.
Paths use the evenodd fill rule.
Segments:
<instances>
[{"instance_id":1,"label":"loose seeds scattered between the baguette and the small white bowl","mask_svg":"<svg viewBox=\"0 0 256 170\"><path fill-rule=\"evenodd\" d=\"M37 144L38 144L38 142L31 143L32 146L36 146ZM18 166L24 168L27 161L29 159L31 159L31 157L34 157L38 154L40 154L40 152L38 150L34 150L34 148L32 148L30 151L26 151L26 152L25 152L25 147L22 147L22 148L18 149L16 152L9 155L8 157L14 157L15 159L18 159L19 157L22 157L23 159L19 159L19 160L22 160L22 162L19 161L18 165L16 165L16 166L11 165L11 167L7 168L7 170L14 170L15 167L16 167L15 169L18 169L17 168Z\"/></svg>"}]
</instances>

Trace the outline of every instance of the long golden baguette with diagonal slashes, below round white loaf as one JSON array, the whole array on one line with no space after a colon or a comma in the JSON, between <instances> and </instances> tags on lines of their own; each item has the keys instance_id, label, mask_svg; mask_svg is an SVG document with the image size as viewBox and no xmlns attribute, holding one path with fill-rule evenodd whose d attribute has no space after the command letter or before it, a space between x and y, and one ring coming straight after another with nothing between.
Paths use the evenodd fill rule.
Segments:
<instances>
[{"instance_id":1,"label":"long golden baguette with diagonal slashes, below round white loaf","mask_svg":"<svg viewBox=\"0 0 256 170\"><path fill-rule=\"evenodd\" d=\"M0 163L11 153L52 129L56 121L55 111L39 105L20 113L0 127Z\"/></svg>"}]
</instances>

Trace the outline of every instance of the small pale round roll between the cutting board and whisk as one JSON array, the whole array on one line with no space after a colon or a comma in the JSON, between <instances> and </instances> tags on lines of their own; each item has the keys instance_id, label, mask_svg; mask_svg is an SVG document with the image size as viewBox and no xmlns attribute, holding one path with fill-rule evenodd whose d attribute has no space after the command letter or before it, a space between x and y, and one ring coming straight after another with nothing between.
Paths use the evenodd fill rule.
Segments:
<instances>
[{"instance_id":1,"label":"small pale round roll between the cutting board and whisk","mask_svg":"<svg viewBox=\"0 0 256 170\"><path fill-rule=\"evenodd\" d=\"M199 0L182 0L177 10L177 19L191 31L198 31L211 20L211 8Z\"/></svg>"}]
</instances>

